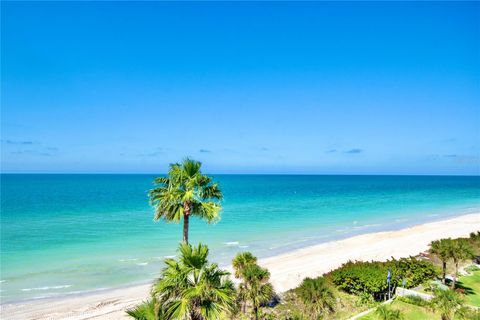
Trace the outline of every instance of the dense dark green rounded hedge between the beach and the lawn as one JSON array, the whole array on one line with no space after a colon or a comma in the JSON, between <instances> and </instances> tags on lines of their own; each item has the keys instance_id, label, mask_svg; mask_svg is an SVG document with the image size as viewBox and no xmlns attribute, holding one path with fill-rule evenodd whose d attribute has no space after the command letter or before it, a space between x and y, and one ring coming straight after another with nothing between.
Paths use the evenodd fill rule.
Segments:
<instances>
[{"instance_id":1,"label":"dense dark green rounded hedge between the beach and the lawn","mask_svg":"<svg viewBox=\"0 0 480 320\"><path fill-rule=\"evenodd\" d=\"M418 286L433 279L437 271L432 263L414 257L387 262L349 261L328 275L340 289L353 294L368 293L376 298L388 290L387 273L391 271L391 288Z\"/></svg>"}]
</instances>

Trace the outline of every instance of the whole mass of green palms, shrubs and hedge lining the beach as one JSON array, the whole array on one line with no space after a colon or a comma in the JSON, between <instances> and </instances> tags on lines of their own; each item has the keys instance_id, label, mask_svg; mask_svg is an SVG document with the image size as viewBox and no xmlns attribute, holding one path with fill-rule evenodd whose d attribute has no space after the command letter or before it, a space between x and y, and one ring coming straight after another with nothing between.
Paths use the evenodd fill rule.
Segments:
<instances>
[{"instance_id":1,"label":"whole mass of green palms, shrubs and hedge lining the beach","mask_svg":"<svg viewBox=\"0 0 480 320\"><path fill-rule=\"evenodd\" d=\"M480 254L480 232L469 238L433 241L427 261L421 257L348 261L323 276L305 278L280 298L270 283L270 272L251 252L240 252L232 260L238 280L235 286L229 272L209 262L206 245L188 243L190 217L212 223L221 210L222 192L211 177L202 174L200 162L185 159L172 164L167 176L156 178L155 184L149 192L154 218L183 221L183 242L178 257L165 260L150 298L127 311L135 319L345 319L373 307L375 311L362 319L480 320L480 311L466 305L476 305L477 298L480 304L480 270L471 269L471 274L458 282L456 278L461 264ZM440 273L445 284L452 268L452 289L438 280L432 286ZM392 303L382 304L400 285L417 290L430 286L433 297L431 301L419 296L396 297Z\"/></svg>"}]
</instances>

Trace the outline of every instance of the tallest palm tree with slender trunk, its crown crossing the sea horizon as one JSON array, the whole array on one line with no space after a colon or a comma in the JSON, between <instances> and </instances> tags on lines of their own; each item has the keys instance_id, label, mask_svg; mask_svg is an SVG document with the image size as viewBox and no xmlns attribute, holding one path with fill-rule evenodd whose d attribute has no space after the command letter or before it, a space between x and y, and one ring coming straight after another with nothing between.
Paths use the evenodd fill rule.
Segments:
<instances>
[{"instance_id":1,"label":"tallest palm tree with slender trunk, its crown crossing the sea horizon","mask_svg":"<svg viewBox=\"0 0 480 320\"><path fill-rule=\"evenodd\" d=\"M203 175L202 164L185 159L170 165L166 177L155 179L157 185L150 190L150 203L155 208L154 219L179 223L183 219L183 242L188 243L190 216L212 223L219 218L222 192L212 178Z\"/></svg>"}]
</instances>

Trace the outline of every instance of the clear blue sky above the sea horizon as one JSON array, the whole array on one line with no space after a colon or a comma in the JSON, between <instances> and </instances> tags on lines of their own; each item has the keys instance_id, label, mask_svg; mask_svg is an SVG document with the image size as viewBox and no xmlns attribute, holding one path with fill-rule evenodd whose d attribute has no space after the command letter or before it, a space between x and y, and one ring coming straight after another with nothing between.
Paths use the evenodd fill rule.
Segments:
<instances>
[{"instance_id":1,"label":"clear blue sky above the sea horizon","mask_svg":"<svg viewBox=\"0 0 480 320\"><path fill-rule=\"evenodd\" d=\"M1 14L3 172L479 174L478 2Z\"/></svg>"}]
</instances>

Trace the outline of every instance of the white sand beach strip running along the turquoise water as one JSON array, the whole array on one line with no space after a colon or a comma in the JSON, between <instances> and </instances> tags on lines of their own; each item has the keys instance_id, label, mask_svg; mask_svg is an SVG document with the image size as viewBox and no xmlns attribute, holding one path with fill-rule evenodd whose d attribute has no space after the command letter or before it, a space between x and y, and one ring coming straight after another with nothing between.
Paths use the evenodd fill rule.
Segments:
<instances>
[{"instance_id":1,"label":"white sand beach strip running along the turquoise water","mask_svg":"<svg viewBox=\"0 0 480 320\"><path fill-rule=\"evenodd\" d=\"M432 240L468 236L480 230L480 213L425 223L398 231L364 234L260 260L278 292L297 286L348 260L386 260L416 255ZM255 252L253 252L255 254ZM148 296L149 285L1 306L2 319L122 319L125 310Z\"/></svg>"}]
</instances>

